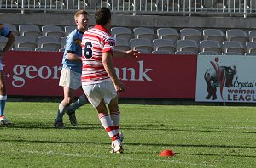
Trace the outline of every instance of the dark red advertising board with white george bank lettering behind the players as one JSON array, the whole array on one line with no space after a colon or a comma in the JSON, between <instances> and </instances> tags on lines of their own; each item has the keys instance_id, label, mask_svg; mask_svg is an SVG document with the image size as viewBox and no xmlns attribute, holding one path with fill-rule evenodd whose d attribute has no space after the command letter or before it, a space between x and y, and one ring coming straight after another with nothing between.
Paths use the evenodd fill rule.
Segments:
<instances>
[{"instance_id":1,"label":"dark red advertising board with white george bank lettering behind the players","mask_svg":"<svg viewBox=\"0 0 256 168\"><path fill-rule=\"evenodd\" d=\"M8 95L62 96L62 53L9 51L3 57ZM114 58L122 98L195 98L196 55L141 54ZM78 92L78 95L82 93Z\"/></svg>"}]
</instances>

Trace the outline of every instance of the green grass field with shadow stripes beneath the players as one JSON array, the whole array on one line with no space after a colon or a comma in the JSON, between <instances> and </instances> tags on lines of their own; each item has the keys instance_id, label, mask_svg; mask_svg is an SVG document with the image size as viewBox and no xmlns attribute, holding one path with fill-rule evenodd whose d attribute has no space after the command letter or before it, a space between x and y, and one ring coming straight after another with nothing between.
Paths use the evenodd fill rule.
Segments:
<instances>
[{"instance_id":1,"label":"green grass field with shadow stripes beneath the players","mask_svg":"<svg viewBox=\"0 0 256 168\"><path fill-rule=\"evenodd\" d=\"M125 154L111 154L95 109L64 116L58 103L8 102L0 126L0 167L256 167L256 107L120 104ZM172 149L174 157L158 156Z\"/></svg>"}]
</instances>

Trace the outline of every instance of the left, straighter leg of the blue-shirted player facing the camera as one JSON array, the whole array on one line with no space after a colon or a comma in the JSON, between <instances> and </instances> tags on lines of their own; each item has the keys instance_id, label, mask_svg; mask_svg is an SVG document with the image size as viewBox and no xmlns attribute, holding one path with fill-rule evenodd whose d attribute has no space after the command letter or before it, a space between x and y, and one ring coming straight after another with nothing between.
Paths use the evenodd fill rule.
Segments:
<instances>
[{"instance_id":1,"label":"left, straighter leg of the blue-shirted player facing the camera","mask_svg":"<svg viewBox=\"0 0 256 168\"><path fill-rule=\"evenodd\" d=\"M75 90L69 87L63 87L64 92L64 99L59 104L57 117L55 119L55 127L56 128L64 128L63 125L63 115L67 111L70 104L72 104L74 96L75 96Z\"/></svg>"}]
</instances>

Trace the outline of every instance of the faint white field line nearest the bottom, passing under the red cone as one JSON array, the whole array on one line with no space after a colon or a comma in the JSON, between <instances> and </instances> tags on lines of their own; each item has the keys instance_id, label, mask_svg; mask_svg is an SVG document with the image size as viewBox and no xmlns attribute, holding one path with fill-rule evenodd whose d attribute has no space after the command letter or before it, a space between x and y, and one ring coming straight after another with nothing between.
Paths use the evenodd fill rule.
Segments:
<instances>
[{"instance_id":1,"label":"faint white field line nearest the bottom, passing under the red cone","mask_svg":"<svg viewBox=\"0 0 256 168\"><path fill-rule=\"evenodd\" d=\"M58 156L69 156L69 157L81 157L81 158L96 158L96 159L108 159L108 156L105 155L93 155L93 154L67 154L67 153L55 153L54 151L48 152L39 152L34 150L20 150L21 153L27 154L45 154L45 155L58 155ZM131 158L122 155L122 160L138 160L138 161L152 161L152 162L165 162L165 163L173 163L173 164L181 164L181 165L196 165L196 166L204 166L204 167L216 167L216 165L210 164L197 164L197 163L189 163L189 162L182 162L182 161L175 161L175 160L157 160L157 159L138 159L138 158Z\"/></svg>"}]
</instances>

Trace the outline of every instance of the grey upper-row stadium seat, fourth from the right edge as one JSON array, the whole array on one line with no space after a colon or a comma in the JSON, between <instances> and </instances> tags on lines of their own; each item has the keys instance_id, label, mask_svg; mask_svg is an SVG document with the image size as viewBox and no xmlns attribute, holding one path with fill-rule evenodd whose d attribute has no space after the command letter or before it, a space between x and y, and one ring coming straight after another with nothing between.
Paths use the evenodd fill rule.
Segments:
<instances>
[{"instance_id":1,"label":"grey upper-row stadium seat, fourth from the right edge","mask_svg":"<svg viewBox=\"0 0 256 168\"><path fill-rule=\"evenodd\" d=\"M201 31L194 28L184 28L180 30L180 38L182 40L194 40L199 43L202 40Z\"/></svg>"}]
</instances>

